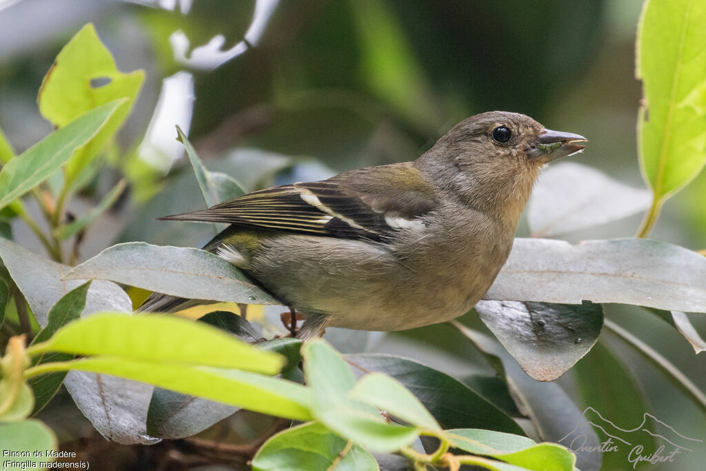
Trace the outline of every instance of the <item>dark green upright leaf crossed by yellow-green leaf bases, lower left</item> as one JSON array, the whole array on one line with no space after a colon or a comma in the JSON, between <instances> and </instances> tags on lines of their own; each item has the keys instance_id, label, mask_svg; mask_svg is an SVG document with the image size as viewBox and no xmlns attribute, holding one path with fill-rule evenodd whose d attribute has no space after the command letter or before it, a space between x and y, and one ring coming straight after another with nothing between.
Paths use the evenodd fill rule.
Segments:
<instances>
[{"instance_id":1,"label":"dark green upright leaf crossed by yellow-green leaf bases, lower left","mask_svg":"<svg viewBox=\"0 0 706 471\"><path fill-rule=\"evenodd\" d=\"M44 340L48 340L56 330L78 319L85 307L88 287L90 287L90 281L74 288L59 299L59 301L54 304L54 307L52 307L52 310L49 311L47 327L37 333L30 345L36 345L37 343L44 342ZM32 366L48 362L66 362L72 358L72 354L46 352L32 358ZM56 391L59 390L61 383L64 382L65 376L66 373L62 372L30 378L29 383L35 395L35 407L32 411L32 415L37 414L37 412L42 410L42 408L49 403L49 400L52 400Z\"/></svg>"}]
</instances>

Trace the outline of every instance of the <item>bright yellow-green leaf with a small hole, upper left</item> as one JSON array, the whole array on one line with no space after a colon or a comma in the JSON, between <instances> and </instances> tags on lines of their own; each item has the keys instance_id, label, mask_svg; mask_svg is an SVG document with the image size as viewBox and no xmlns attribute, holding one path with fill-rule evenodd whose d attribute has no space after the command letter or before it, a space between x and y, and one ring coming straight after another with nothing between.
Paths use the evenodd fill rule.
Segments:
<instances>
[{"instance_id":1,"label":"bright yellow-green leaf with a small hole, upper left","mask_svg":"<svg viewBox=\"0 0 706 471\"><path fill-rule=\"evenodd\" d=\"M66 166L68 182L78 177L128 117L144 80L143 71L121 73L92 24L85 25L61 49L44 76L38 97L40 112L60 129L89 109L122 99L90 144ZM107 81L99 86L95 81Z\"/></svg>"}]
</instances>

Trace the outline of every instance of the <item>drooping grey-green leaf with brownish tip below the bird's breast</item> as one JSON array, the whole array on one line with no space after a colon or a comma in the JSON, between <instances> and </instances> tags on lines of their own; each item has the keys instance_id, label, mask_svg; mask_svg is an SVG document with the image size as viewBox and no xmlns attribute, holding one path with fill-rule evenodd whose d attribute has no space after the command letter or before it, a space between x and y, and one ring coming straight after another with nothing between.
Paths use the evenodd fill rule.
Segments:
<instances>
[{"instance_id":1,"label":"drooping grey-green leaf with brownish tip below the bird's breast","mask_svg":"<svg viewBox=\"0 0 706 471\"><path fill-rule=\"evenodd\" d=\"M554 381L591 350L603 326L600 304L481 301L481 321L525 373Z\"/></svg>"}]
</instances>

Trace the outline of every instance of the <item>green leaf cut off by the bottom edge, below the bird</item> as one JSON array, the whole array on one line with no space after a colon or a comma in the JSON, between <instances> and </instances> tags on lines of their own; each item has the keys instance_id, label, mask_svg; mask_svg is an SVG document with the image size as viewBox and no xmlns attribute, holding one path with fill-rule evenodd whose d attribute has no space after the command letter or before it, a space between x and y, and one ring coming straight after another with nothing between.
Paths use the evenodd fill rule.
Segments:
<instances>
[{"instance_id":1,"label":"green leaf cut off by the bottom edge, below the bird","mask_svg":"<svg viewBox=\"0 0 706 471\"><path fill-rule=\"evenodd\" d=\"M361 446L316 422L292 427L265 441L253 458L255 471L373 471L378 463Z\"/></svg>"}]
</instances>

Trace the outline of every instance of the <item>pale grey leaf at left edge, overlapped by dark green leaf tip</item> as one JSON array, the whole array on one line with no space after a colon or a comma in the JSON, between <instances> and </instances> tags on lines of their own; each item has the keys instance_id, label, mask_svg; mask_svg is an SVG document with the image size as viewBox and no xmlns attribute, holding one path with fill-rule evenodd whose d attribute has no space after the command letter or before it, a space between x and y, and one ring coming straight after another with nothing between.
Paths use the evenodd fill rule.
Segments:
<instances>
[{"instance_id":1,"label":"pale grey leaf at left edge, overlapped by dark green leaf tip","mask_svg":"<svg viewBox=\"0 0 706 471\"><path fill-rule=\"evenodd\" d=\"M0 258L27 299L40 326L47 326L49 309L66 293L88 280L61 280L70 267L47 260L23 246L0 238ZM113 282L91 282L82 315L97 311L132 312L132 301Z\"/></svg>"}]
</instances>

